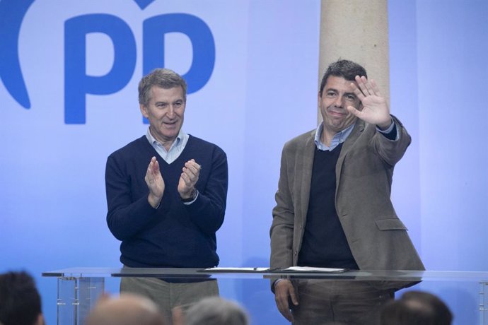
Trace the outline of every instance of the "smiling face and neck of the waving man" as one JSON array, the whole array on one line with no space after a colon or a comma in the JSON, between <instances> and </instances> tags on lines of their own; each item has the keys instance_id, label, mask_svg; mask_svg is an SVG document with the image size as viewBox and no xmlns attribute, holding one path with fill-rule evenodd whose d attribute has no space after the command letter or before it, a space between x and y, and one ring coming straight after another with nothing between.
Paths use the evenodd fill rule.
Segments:
<instances>
[{"instance_id":1,"label":"smiling face and neck of the waving man","mask_svg":"<svg viewBox=\"0 0 488 325\"><path fill-rule=\"evenodd\" d=\"M322 94L318 94L320 113L324 120L323 137L332 138L356 121L354 114L347 110L348 106L361 110L361 101L354 95L352 82L342 77L329 76Z\"/></svg>"}]
</instances>

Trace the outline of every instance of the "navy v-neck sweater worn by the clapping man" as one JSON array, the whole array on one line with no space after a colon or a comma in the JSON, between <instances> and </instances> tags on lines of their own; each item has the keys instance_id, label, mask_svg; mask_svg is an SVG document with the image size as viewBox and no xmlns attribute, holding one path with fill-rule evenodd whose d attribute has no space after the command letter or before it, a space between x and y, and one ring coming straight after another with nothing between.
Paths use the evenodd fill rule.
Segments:
<instances>
[{"instance_id":1,"label":"navy v-neck sweater worn by the clapping man","mask_svg":"<svg viewBox=\"0 0 488 325\"><path fill-rule=\"evenodd\" d=\"M157 209L148 202L146 170L156 156L165 183ZM185 205L178 194L182 167L202 166L197 199ZM112 153L105 170L107 223L121 240L120 261L130 267L207 268L219 264L215 233L226 209L228 169L218 146L190 136L178 159L168 164L146 136Z\"/></svg>"}]
</instances>

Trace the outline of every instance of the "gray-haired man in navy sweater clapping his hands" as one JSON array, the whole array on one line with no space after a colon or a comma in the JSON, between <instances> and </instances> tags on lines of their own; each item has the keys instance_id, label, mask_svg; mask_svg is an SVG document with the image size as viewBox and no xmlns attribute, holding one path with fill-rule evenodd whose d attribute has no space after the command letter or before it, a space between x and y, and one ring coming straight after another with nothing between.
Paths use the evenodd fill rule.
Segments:
<instances>
[{"instance_id":1,"label":"gray-haired man in navy sweater clapping his hands","mask_svg":"<svg viewBox=\"0 0 488 325\"><path fill-rule=\"evenodd\" d=\"M147 134L107 160L107 223L124 267L209 268L219 264L216 231L226 209L228 170L221 148L182 131L185 80L156 69L139 83ZM121 292L145 295L167 317L178 305L218 295L215 280L122 278Z\"/></svg>"}]
</instances>

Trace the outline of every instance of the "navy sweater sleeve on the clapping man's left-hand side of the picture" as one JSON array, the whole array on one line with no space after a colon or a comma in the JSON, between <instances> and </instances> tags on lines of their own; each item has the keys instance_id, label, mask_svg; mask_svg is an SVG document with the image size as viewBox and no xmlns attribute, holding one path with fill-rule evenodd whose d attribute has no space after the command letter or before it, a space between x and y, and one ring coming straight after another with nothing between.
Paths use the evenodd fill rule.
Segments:
<instances>
[{"instance_id":1,"label":"navy sweater sleeve on the clapping man's left-hand side of the picture","mask_svg":"<svg viewBox=\"0 0 488 325\"><path fill-rule=\"evenodd\" d=\"M147 195L132 201L131 177L127 173L127 166L113 154L108 157L105 167L105 191L107 224L117 240L133 237L156 218L158 210L149 204Z\"/></svg>"}]
</instances>

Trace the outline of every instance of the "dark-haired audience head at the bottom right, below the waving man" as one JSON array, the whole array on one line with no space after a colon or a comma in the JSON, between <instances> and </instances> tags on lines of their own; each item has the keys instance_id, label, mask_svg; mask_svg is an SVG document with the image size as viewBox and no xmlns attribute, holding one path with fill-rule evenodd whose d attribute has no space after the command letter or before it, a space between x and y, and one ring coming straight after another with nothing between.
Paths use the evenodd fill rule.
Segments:
<instances>
[{"instance_id":1,"label":"dark-haired audience head at the bottom right, below the waving man","mask_svg":"<svg viewBox=\"0 0 488 325\"><path fill-rule=\"evenodd\" d=\"M435 295L408 291L383 307L381 325L451 325L453 314Z\"/></svg>"}]
</instances>

